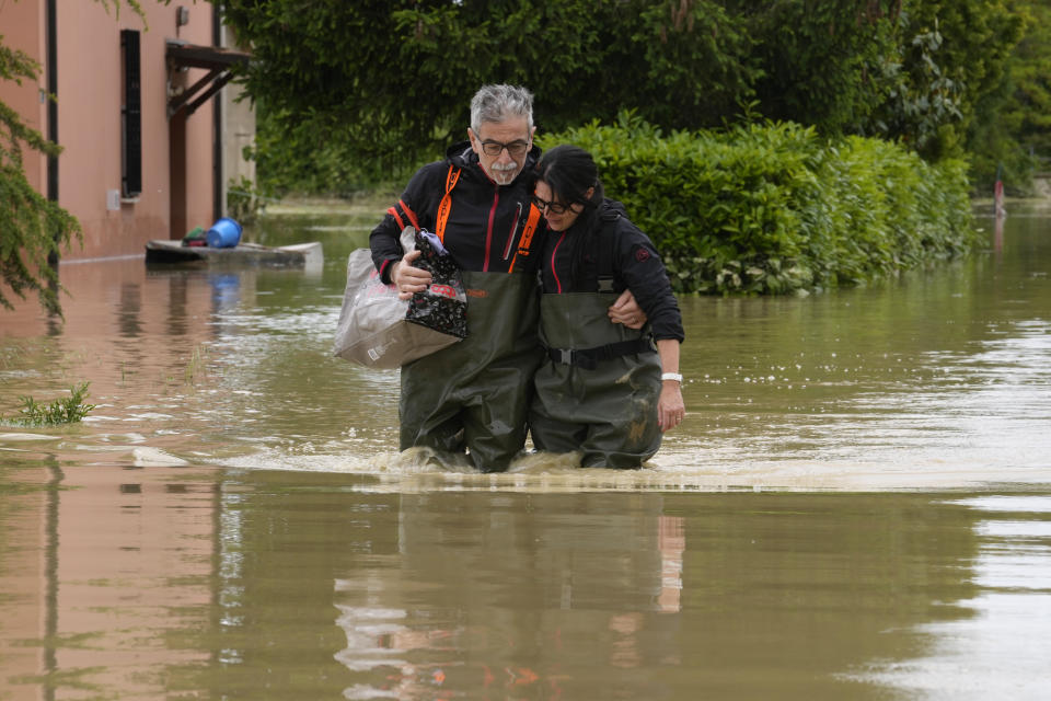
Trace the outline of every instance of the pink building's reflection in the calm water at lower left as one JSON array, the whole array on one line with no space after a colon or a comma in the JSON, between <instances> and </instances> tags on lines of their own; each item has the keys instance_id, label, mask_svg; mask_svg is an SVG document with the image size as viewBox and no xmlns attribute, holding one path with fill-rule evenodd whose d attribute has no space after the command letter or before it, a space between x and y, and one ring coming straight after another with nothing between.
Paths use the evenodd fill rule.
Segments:
<instances>
[{"instance_id":1,"label":"pink building's reflection in the calm water at lower left","mask_svg":"<svg viewBox=\"0 0 1051 701\"><path fill-rule=\"evenodd\" d=\"M209 490L173 476L4 461L0 697L158 698L205 659L176 639L208 602Z\"/></svg>"}]
</instances>

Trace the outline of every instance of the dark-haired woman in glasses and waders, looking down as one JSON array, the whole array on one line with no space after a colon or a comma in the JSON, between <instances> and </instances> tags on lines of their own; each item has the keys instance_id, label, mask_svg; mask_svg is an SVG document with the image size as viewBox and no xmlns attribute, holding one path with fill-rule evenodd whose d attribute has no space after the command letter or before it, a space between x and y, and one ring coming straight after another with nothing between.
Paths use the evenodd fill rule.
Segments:
<instances>
[{"instance_id":1,"label":"dark-haired woman in glasses and waders, looking down","mask_svg":"<svg viewBox=\"0 0 1051 701\"><path fill-rule=\"evenodd\" d=\"M652 242L603 196L590 153L555 147L535 173L533 203L548 231L540 322L547 357L533 380L533 444L582 451L584 467L638 468L685 412L679 304ZM649 319L640 331L609 320L609 300L628 287Z\"/></svg>"}]
</instances>

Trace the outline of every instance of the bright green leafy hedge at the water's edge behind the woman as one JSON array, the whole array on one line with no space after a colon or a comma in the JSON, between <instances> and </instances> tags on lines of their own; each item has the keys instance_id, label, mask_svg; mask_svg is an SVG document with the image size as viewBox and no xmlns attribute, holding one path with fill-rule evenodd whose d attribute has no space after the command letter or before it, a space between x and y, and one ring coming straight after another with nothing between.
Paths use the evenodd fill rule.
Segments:
<instances>
[{"instance_id":1,"label":"bright green leafy hedge at the water's edge behind the woman","mask_svg":"<svg viewBox=\"0 0 1051 701\"><path fill-rule=\"evenodd\" d=\"M679 292L857 285L969 251L967 164L792 123L660 130L631 113L538 139L575 143L661 252Z\"/></svg>"}]
</instances>

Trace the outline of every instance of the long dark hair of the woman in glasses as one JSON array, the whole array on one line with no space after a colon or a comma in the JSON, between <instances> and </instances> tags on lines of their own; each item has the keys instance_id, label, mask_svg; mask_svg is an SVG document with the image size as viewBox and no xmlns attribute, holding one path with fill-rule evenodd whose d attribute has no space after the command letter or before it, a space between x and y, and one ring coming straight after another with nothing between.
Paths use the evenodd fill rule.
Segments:
<instances>
[{"instance_id":1,"label":"long dark hair of the woman in glasses","mask_svg":"<svg viewBox=\"0 0 1051 701\"><path fill-rule=\"evenodd\" d=\"M574 223L577 234L569 240L573 261L569 274L573 279L579 279L584 256L592 249L597 210L605 197L599 182L599 169L590 153L578 146L564 143L540 157L535 173L538 181L542 180L551 187L551 196L556 202L584 205L584 211ZM594 192L588 197L591 187Z\"/></svg>"}]
</instances>

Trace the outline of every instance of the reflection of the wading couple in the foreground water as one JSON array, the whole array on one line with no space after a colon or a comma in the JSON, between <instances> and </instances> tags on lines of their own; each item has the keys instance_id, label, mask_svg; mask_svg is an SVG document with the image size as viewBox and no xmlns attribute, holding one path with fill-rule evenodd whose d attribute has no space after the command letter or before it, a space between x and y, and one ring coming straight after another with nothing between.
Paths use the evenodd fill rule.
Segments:
<instances>
[{"instance_id":1,"label":"reflection of the wading couple in the foreground water","mask_svg":"<svg viewBox=\"0 0 1051 701\"><path fill-rule=\"evenodd\" d=\"M654 614L680 611L683 519L623 501L403 496L393 567L335 583L345 697L658 698L637 677L636 696L608 696L587 671L680 664L680 623Z\"/></svg>"}]
</instances>

